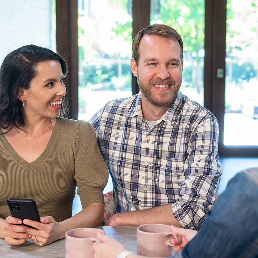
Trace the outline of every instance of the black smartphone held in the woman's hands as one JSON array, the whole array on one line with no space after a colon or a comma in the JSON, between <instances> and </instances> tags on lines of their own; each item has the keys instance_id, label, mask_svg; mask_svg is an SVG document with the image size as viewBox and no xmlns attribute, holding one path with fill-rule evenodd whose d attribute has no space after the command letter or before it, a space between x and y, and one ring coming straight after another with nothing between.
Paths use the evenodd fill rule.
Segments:
<instances>
[{"instance_id":1,"label":"black smartphone held in the woman's hands","mask_svg":"<svg viewBox=\"0 0 258 258\"><path fill-rule=\"evenodd\" d=\"M31 219L40 222L39 211L35 200L33 199L7 199L7 204L9 206L12 217L21 219ZM26 227L33 228L31 226L25 225Z\"/></svg>"}]
</instances>

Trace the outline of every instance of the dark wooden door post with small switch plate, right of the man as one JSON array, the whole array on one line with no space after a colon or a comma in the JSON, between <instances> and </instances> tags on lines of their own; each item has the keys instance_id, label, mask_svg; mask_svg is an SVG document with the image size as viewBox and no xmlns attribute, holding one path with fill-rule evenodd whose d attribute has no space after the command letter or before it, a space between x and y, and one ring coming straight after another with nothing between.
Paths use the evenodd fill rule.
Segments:
<instances>
[{"instance_id":1,"label":"dark wooden door post with small switch plate, right of the man","mask_svg":"<svg viewBox=\"0 0 258 258\"><path fill-rule=\"evenodd\" d=\"M204 39L204 107L210 110L219 122L219 153L222 150L224 127L226 15L227 1L205 1ZM224 75L217 77L217 70Z\"/></svg>"}]
</instances>

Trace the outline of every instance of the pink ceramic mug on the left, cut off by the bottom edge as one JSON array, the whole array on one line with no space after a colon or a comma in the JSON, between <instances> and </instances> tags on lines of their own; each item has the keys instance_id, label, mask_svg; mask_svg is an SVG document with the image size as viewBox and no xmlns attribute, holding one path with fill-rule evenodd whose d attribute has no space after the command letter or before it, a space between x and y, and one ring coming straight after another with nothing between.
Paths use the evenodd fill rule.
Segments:
<instances>
[{"instance_id":1,"label":"pink ceramic mug on the left, cut off by the bottom edge","mask_svg":"<svg viewBox=\"0 0 258 258\"><path fill-rule=\"evenodd\" d=\"M97 232L103 232L98 228L74 228L65 234L66 258L93 258L93 244L99 242Z\"/></svg>"}]
</instances>

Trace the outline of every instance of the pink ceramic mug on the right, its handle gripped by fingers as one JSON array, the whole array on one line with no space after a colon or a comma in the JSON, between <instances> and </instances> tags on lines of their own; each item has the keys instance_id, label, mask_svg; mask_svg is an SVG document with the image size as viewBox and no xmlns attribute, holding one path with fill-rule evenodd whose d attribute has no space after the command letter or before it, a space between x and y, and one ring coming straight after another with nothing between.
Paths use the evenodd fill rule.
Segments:
<instances>
[{"instance_id":1,"label":"pink ceramic mug on the right, its handle gripped by fingers","mask_svg":"<svg viewBox=\"0 0 258 258\"><path fill-rule=\"evenodd\" d=\"M171 232L168 225L145 224L137 228L137 254L148 257L168 257L172 253L171 237L181 236Z\"/></svg>"}]
</instances>

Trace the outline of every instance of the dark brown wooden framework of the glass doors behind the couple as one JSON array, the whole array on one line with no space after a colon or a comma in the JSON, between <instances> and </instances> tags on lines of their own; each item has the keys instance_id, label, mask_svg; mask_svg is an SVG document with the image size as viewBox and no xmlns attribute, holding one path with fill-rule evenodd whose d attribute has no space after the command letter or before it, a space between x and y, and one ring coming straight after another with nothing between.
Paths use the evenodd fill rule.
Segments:
<instances>
[{"instance_id":1,"label":"dark brown wooden framework of the glass doors behind the couple","mask_svg":"<svg viewBox=\"0 0 258 258\"><path fill-rule=\"evenodd\" d=\"M150 0L132 0L133 37L150 24ZM258 146L223 145L225 114L225 76L217 78L217 69L225 75L227 0L205 1L205 59L204 107L219 122L219 156L257 157ZM78 119L78 1L56 0L57 51L67 57L69 76L66 78L67 99L70 100L70 118ZM136 77L132 75L132 94L139 92Z\"/></svg>"}]
</instances>

